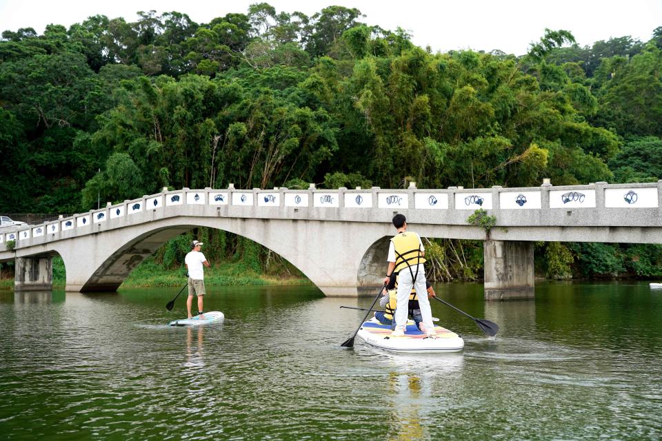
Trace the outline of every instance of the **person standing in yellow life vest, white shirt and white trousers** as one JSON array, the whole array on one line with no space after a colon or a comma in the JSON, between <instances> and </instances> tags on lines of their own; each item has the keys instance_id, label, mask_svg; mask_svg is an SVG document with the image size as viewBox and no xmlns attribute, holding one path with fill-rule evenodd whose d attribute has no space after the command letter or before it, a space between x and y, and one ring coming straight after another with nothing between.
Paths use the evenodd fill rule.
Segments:
<instances>
[{"instance_id":1,"label":"person standing in yellow life vest, white shirt and white trousers","mask_svg":"<svg viewBox=\"0 0 662 441\"><path fill-rule=\"evenodd\" d=\"M409 296L412 288L416 291L421 308L421 318L425 334L434 338L437 333L432 324L432 310L430 300L425 292L425 248L418 234L407 231L407 219L403 214L393 216L393 225L398 234L390 240L388 248L388 269L383 280L387 285L392 274L399 279L397 291L397 308L395 310L395 329L392 336L403 336L407 326L407 313L409 310Z\"/></svg>"}]
</instances>

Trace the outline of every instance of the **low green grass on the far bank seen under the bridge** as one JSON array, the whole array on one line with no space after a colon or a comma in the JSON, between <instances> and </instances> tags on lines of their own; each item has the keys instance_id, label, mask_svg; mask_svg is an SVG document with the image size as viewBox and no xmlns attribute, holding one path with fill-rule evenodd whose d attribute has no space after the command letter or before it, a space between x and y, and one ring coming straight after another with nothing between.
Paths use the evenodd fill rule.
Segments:
<instances>
[{"instance_id":1,"label":"low green grass on the far bank seen under the bridge","mask_svg":"<svg viewBox=\"0 0 662 441\"><path fill-rule=\"evenodd\" d=\"M148 258L134 269L124 280L122 287L181 287L186 283L185 269L163 269L161 265ZM53 258L53 287L63 288L66 285L64 263L59 257ZM205 285L207 286L247 286L247 285L310 285L305 277L277 276L259 274L245 267L241 262L219 263L211 268L205 268ZM13 278L0 279L0 289L14 289Z\"/></svg>"}]
</instances>

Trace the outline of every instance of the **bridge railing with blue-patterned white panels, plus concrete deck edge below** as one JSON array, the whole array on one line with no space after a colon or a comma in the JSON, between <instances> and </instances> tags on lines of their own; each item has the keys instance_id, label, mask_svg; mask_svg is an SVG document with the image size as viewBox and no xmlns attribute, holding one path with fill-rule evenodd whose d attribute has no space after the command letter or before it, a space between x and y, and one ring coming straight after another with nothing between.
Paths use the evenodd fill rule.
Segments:
<instances>
[{"instance_id":1,"label":"bridge railing with blue-patterned white panels, plus concrete deck edge below","mask_svg":"<svg viewBox=\"0 0 662 441\"><path fill-rule=\"evenodd\" d=\"M0 251L103 232L164 216L308 218L388 222L403 212L414 222L466 225L476 209L501 225L602 225L662 227L662 181L656 183L489 189L188 189L164 191L101 209L59 216L17 231L0 232Z\"/></svg>"}]
</instances>

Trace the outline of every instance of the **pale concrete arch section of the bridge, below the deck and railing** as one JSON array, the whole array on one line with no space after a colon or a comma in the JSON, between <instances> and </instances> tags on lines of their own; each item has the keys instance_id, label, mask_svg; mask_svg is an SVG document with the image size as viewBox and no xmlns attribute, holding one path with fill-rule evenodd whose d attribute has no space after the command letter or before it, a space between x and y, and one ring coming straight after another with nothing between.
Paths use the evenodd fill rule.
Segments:
<instances>
[{"instance_id":1,"label":"pale concrete arch section of the bridge, below the deck and railing","mask_svg":"<svg viewBox=\"0 0 662 441\"><path fill-rule=\"evenodd\" d=\"M163 243L195 227L222 229L271 249L326 296L357 296L357 287L379 284L388 251L388 225L379 223L348 229L334 221L180 216L51 243L50 252L64 261L67 291L114 291Z\"/></svg>"}]
</instances>

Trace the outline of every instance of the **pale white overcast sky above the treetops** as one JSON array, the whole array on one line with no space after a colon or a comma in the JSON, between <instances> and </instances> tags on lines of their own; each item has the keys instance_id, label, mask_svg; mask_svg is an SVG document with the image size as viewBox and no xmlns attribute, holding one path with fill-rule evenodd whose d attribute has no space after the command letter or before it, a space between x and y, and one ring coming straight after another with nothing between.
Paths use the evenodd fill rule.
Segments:
<instances>
[{"instance_id":1,"label":"pale white overcast sky above the treetops","mask_svg":"<svg viewBox=\"0 0 662 441\"><path fill-rule=\"evenodd\" d=\"M208 23L228 12L246 12L257 0L0 0L0 32L34 28L39 34L48 23L80 23L103 14L135 21L139 10L177 11L197 23ZM492 50L521 55L542 37L545 28L569 30L580 45L610 37L630 35L648 41L662 26L662 0L271 0L277 12L300 11L306 15L325 6L358 8L364 23L412 34L415 44L434 51L454 49Z\"/></svg>"}]
</instances>

